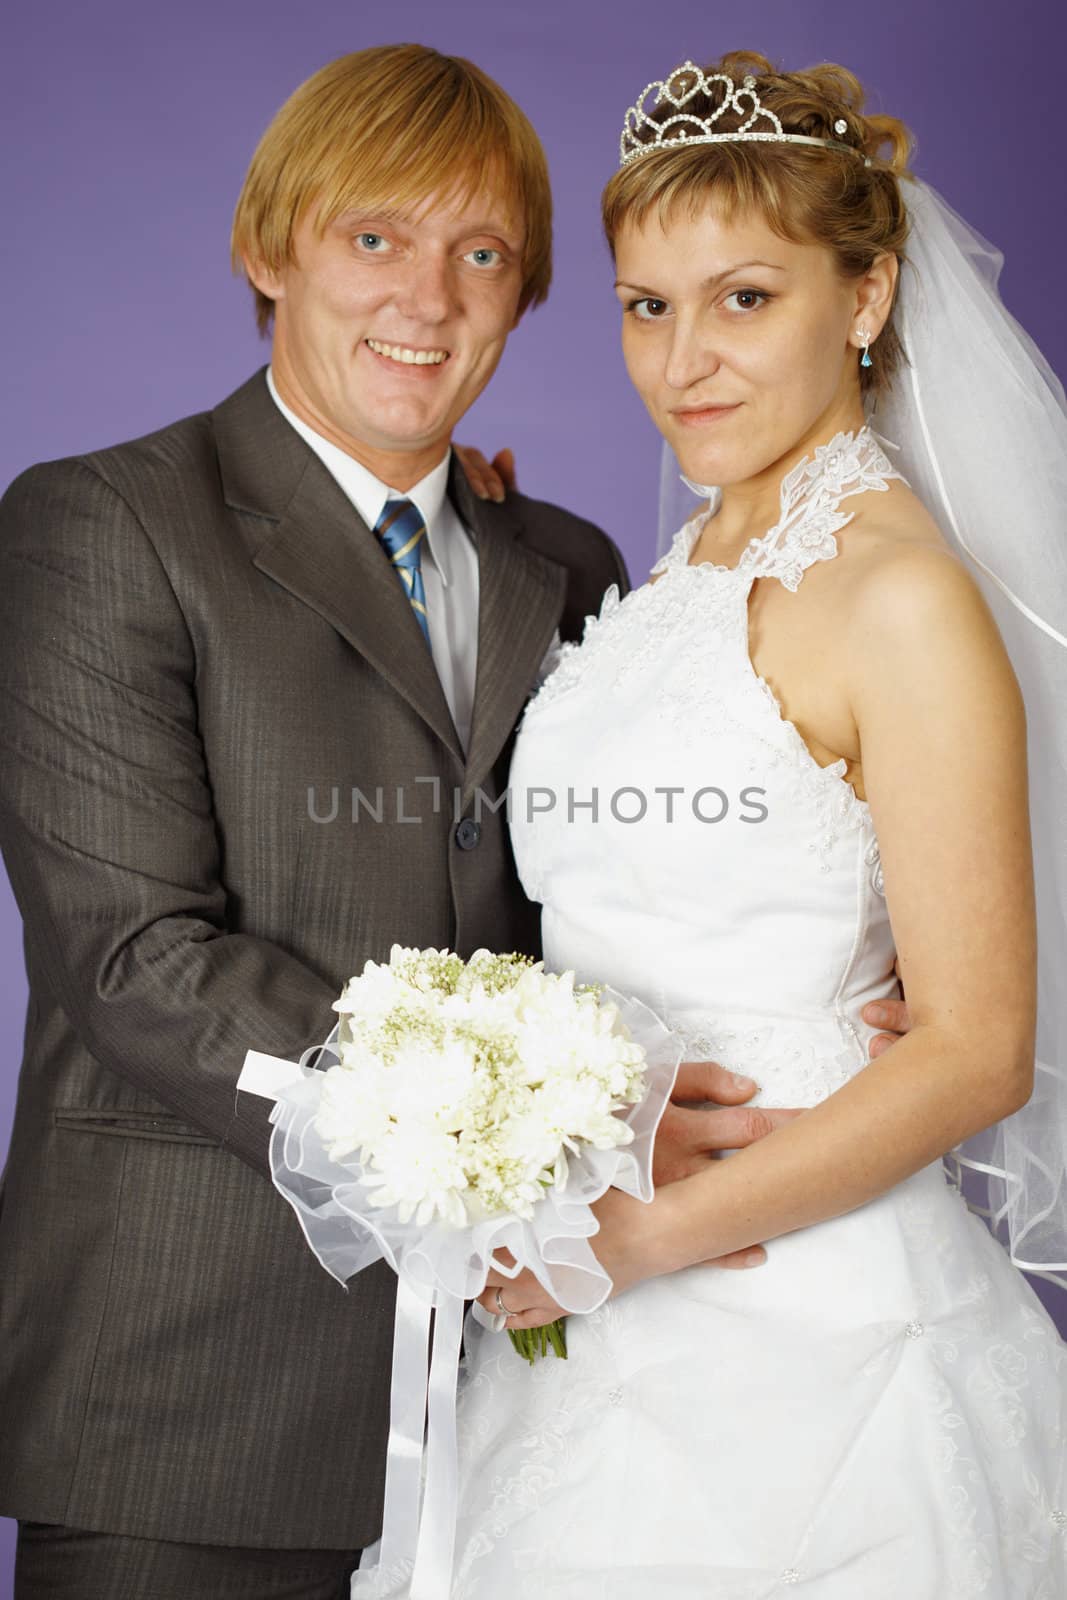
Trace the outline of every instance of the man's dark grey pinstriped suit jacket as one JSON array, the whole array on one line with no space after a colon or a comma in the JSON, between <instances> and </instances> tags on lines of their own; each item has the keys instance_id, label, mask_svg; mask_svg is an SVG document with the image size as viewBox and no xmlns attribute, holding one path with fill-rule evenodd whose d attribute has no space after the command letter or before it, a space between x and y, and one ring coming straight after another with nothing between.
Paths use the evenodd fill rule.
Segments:
<instances>
[{"instance_id":1,"label":"man's dark grey pinstriped suit jacket","mask_svg":"<svg viewBox=\"0 0 1067 1600\"><path fill-rule=\"evenodd\" d=\"M590 523L482 504L459 472L450 493L482 590L466 762L395 573L262 373L0 502L0 843L30 981L6 1515L378 1536L392 1275L346 1291L315 1262L266 1176L267 1104L234 1085L246 1048L325 1037L394 941L536 952L504 811L474 829L474 797L502 794L555 627L625 587Z\"/></svg>"}]
</instances>

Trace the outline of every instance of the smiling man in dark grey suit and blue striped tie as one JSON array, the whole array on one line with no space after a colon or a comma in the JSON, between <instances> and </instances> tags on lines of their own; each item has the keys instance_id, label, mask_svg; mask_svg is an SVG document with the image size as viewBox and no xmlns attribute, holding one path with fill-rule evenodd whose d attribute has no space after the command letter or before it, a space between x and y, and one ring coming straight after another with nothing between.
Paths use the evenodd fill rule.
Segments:
<instances>
[{"instance_id":1,"label":"smiling man in dark grey suit and blue striped tie","mask_svg":"<svg viewBox=\"0 0 1067 1600\"><path fill-rule=\"evenodd\" d=\"M477 131L475 131L477 130ZM272 365L0 506L0 842L30 1005L0 1213L16 1595L346 1592L379 1533L394 1280L347 1291L267 1182L246 1048L296 1056L390 944L537 949L502 810L595 526L450 453L545 298L518 107L421 46L346 56L264 134L237 259ZM693 1069L661 1178L747 1142Z\"/></svg>"}]
</instances>

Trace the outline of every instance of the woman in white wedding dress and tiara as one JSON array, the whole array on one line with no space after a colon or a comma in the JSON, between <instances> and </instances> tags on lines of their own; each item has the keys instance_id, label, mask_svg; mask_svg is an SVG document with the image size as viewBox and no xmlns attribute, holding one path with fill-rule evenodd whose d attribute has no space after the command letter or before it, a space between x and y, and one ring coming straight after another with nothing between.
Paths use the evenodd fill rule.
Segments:
<instances>
[{"instance_id":1,"label":"woman in white wedding dress and tiara","mask_svg":"<svg viewBox=\"0 0 1067 1600\"><path fill-rule=\"evenodd\" d=\"M1016 677L865 421L912 355L907 134L838 67L726 56L622 157L627 366L721 491L531 701L515 856L550 968L809 1109L605 1197L616 1291L566 1362L472 1326L453 1594L1062 1600L1065 1349L941 1160L1024 1115L1035 912ZM897 955L913 1029L869 1061ZM530 1274L483 1304L558 1314Z\"/></svg>"}]
</instances>

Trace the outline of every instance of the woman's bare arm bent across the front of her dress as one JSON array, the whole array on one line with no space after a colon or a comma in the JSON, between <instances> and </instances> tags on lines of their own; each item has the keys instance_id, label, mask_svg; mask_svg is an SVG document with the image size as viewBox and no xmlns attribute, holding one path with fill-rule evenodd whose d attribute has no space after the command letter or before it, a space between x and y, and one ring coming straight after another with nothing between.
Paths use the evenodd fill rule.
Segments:
<instances>
[{"instance_id":1,"label":"woman's bare arm bent across the front of her dress","mask_svg":"<svg viewBox=\"0 0 1067 1600\"><path fill-rule=\"evenodd\" d=\"M797 1122L664 1190L638 1245L657 1245L657 1270L851 1211L1025 1104L1033 1086L1025 720L997 627L950 555L912 546L865 574L849 632L864 782L913 1027ZM611 1205L605 1213L613 1253Z\"/></svg>"}]
</instances>

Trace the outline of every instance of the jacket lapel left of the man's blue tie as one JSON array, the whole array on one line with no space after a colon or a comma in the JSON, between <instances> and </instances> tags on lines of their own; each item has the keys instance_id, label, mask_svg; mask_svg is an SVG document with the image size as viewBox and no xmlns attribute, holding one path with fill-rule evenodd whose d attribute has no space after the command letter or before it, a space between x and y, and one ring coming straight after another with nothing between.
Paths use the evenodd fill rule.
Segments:
<instances>
[{"instance_id":1,"label":"jacket lapel left of the man's blue tie","mask_svg":"<svg viewBox=\"0 0 1067 1600\"><path fill-rule=\"evenodd\" d=\"M258 373L213 413L227 504L272 526L253 563L325 618L462 763L459 736L397 574L378 539Z\"/></svg>"}]
</instances>

